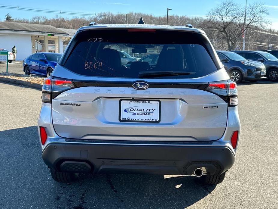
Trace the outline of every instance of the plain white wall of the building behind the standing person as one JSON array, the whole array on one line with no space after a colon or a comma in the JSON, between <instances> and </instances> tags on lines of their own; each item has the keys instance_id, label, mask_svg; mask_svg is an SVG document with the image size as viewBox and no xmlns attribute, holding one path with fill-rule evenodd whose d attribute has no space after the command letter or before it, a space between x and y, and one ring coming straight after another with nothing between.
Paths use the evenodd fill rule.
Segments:
<instances>
[{"instance_id":1,"label":"plain white wall of the building behind the standing person","mask_svg":"<svg viewBox=\"0 0 278 209\"><path fill-rule=\"evenodd\" d=\"M0 48L11 51L14 45L17 47L16 60L24 60L32 54L31 35L0 33Z\"/></svg>"}]
</instances>

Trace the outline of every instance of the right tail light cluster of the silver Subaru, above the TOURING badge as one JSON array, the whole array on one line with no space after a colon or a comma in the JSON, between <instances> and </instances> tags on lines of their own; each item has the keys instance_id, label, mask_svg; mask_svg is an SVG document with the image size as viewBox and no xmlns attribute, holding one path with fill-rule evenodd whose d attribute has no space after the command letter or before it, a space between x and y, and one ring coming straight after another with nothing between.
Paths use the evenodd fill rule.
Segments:
<instances>
[{"instance_id":1,"label":"right tail light cluster of the silver Subaru, above the TOURING badge","mask_svg":"<svg viewBox=\"0 0 278 209\"><path fill-rule=\"evenodd\" d=\"M228 102L229 107L238 105L237 84L234 82L209 83L206 90L220 96L224 101Z\"/></svg>"}]
</instances>

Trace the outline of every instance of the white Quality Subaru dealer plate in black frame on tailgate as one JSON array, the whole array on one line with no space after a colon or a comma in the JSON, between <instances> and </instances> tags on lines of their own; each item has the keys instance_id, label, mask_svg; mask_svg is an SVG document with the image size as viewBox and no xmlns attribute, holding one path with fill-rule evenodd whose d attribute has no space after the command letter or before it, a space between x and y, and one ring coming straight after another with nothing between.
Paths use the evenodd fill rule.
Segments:
<instances>
[{"instance_id":1,"label":"white Quality Subaru dealer plate in black frame on tailgate","mask_svg":"<svg viewBox=\"0 0 278 209\"><path fill-rule=\"evenodd\" d=\"M160 122L160 101L121 99L119 121L159 123Z\"/></svg>"}]
</instances>

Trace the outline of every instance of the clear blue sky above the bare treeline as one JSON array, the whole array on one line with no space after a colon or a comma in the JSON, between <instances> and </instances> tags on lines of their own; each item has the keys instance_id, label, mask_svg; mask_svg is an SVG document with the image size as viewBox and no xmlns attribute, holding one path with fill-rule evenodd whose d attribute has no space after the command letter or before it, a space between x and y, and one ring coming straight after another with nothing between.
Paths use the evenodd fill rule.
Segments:
<instances>
[{"instance_id":1,"label":"clear blue sky above the bare treeline","mask_svg":"<svg viewBox=\"0 0 278 209\"><path fill-rule=\"evenodd\" d=\"M257 0L247 0L247 4ZM1 1L0 5L12 5L28 8L42 8L62 11L73 12L113 12L113 13L128 13L129 11L144 12L153 15L165 15L167 7L171 8L170 14L188 15L188 16L205 16L207 11L215 7L220 0L47 0L47 1L34 1L34 0L13 0ZM245 6L244 0L234 0L242 6ZM272 28L278 30L278 1L265 0L262 1L269 9L269 16L267 17L272 22ZM55 14L18 11L7 8L0 8L0 20L4 20L5 14L10 13L13 18L31 18L37 15L44 15L46 17L53 17ZM62 17L72 17L71 15L62 14Z\"/></svg>"}]
</instances>

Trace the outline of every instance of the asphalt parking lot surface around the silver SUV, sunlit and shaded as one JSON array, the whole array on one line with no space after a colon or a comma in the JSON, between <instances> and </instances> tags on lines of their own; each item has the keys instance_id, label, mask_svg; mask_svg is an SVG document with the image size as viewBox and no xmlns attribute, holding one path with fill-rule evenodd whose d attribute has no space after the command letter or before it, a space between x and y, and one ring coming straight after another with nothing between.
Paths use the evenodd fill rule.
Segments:
<instances>
[{"instance_id":1,"label":"asphalt parking lot surface around the silver SUV, sunlit and shaded","mask_svg":"<svg viewBox=\"0 0 278 209\"><path fill-rule=\"evenodd\" d=\"M39 90L0 83L0 208L278 208L278 83L238 86L240 144L223 183L194 177L81 175L51 179L41 159Z\"/></svg>"}]
</instances>

